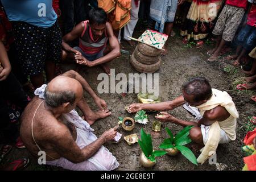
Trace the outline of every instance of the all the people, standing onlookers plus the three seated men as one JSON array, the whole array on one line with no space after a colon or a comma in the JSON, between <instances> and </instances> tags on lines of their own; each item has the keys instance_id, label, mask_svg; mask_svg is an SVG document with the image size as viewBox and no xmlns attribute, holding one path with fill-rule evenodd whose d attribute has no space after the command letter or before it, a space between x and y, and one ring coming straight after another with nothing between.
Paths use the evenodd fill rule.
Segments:
<instances>
[{"instance_id":1,"label":"all the people, standing onlookers plus the three seated men","mask_svg":"<svg viewBox=\"0 0 256 182\"><path fill-rule=\"evenodd\" d=\"M237 89L256 89L254 0L0 2L0 163L11 151L11 143L15 143L18 148L27 148L35 158L39 151L45 151L46 164L51 166L71 170L113 170L119 166L103 146L115 138L118 127L106 130L99 138L93 134L90 125L111 112L77 70L100 66L110 75L108 63L119 57L123 48L121 35L129 46L135 46L130 37L139 16L147 20L147 28L167 34L168 40L175 34L174 26L184 44L195 41L196 47L201 48L207 39L212 40L215 47L207 52L209 62L218 61L220 56L236 49L234 55L225 59L233 60L235 67L242 65L242 72L249 76ZM168 40L163 56L170 51ZM59 64L76 64L77 70L57 76ZM100 111L90 109L83 90ZM32 98L28 96L31 92ZM251 96L251 100L256 102L256 96ZM185 82L182 94L173 101L131 104L129 110L166 111L181 105L191 112L199 110L199 121L183 121L166 112L156 118L195 126L190 137L201 145L211 144L210 128L216 121L219 143L236 139L239 115L232 98L213 89L203 77ZM76 107L82 111L82 117ZM246 144L254 144L255 150L255 138ZM18 159L5 169L23 169L29 162L28 158ZM247 165L247 169L251 166Z\"/></svg>"}]
</instances>

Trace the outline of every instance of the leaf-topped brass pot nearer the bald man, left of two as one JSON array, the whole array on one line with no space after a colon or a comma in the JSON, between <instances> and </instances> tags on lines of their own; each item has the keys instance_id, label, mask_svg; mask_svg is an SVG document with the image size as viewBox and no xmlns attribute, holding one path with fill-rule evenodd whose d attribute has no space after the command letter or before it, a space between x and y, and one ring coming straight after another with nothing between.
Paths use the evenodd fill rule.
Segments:
<instances>
[{"instance_id":1,"label":"leaf-topped brass pot nearer the bald man, left of two","mask_svg":"<svg viewBox=\"0 0 256 182\"><path fill-rule=\"evenodd\" d=\"M141 140L138 140L138 143L142 150L139 162L143 167L153 167L156 163L156 157L167 154L163 150L153 150L151 135L146 134L143 129L141 129Z\"/></svg>"}]
</instances>

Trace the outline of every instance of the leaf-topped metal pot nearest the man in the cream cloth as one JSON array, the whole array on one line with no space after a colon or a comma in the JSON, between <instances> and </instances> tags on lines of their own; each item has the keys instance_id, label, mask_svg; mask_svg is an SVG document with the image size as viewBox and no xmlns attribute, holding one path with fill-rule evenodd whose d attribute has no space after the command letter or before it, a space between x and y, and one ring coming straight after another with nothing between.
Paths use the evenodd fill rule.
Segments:
<instances>
[{"instance_id":1,"label":"leaf-topped metal pot nearest the man in the cream cloth","mask_svg":"<svg viewBox=\"0 0 256 182\"><path fill-rule=\"evenodd\" d=\"M181 154L184 155L185 158L187 158L191 163L197 165L196 156L188 147L184 146L185 144L192 142L192 140L189 138L189 131L192 129L192 127L194 126L184 127L184 129L179 131L175 137L171 130L166 127L167 134L170 138L164 139L159 148L167 151L168 155L170 156L175 156L181 152Z\"/></svg>"}]
</instances>

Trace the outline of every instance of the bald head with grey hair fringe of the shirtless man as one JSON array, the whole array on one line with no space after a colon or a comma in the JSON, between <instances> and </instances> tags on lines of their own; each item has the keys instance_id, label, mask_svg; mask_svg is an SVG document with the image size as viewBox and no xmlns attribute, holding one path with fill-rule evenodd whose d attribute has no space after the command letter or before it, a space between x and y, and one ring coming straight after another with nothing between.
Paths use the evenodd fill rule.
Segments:
<instances>
[{"instance_id":1,"label":"bald head with grey hair fringe of the shirtless man","mask_svg":"<svg viewBox=\"0 0 256 182\"><path fill-rule=\"evenodd\" d=\"M46 104L53 108L68 102L73 105L82 97L82 85L73 78L57 76L47 85L44 96Z\"/></svg>"}]
</instances>

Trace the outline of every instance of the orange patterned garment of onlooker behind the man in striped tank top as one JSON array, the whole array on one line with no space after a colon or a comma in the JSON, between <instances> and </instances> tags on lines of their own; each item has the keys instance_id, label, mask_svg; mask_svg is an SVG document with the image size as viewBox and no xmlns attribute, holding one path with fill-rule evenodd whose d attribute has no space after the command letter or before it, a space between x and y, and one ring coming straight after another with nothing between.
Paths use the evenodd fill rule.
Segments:
<instances>
[{"instance_id":1,"label":"orange patterned garment of onlooker behind the man in striped tank top","mask_svg":"<svg viewBox=\"0 0 256 182\"><path fill-rule=\"evenodd\" d=\"M114 30L121 30L130 21L131 0L98 0Z\"/></svg>"}]
</instances>

